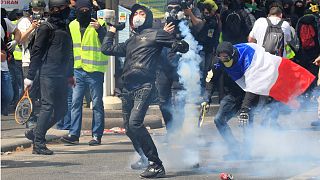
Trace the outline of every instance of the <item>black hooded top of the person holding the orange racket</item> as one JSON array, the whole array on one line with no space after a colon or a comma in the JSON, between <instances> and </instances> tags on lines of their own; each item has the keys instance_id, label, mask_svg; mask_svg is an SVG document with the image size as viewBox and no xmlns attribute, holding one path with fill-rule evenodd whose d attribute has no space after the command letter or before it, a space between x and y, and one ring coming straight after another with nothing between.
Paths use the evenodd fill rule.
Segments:
<instances>
[{"instance_id":1,"label":"black hooded top of the person holding the orange racket","mask_svg":"<svg viewBox=\"0 0 320 180\"><path fill-rule=\"evenodd\" d=\"M69 59L72 39L67 25L64 20L55 17L50 17L48 22L54 29L51 30L48 25L41 24L30 52L31 62L27 75L30 80L34 79L39 69L40 76L73 76L73 61Z\"/></svg>"}]
</instances>

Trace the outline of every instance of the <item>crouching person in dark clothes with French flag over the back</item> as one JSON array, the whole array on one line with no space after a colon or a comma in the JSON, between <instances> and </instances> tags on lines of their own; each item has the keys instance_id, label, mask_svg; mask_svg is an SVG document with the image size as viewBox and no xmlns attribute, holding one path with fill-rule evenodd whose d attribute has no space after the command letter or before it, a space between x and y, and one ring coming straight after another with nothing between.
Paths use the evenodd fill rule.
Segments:
<instances>
[{"instance_id":1,"label":"crouching person in dark clothes with French flag over the back","mask_svg":"<svg viewBox=\"0 0 320 180\"><path fill-rule=\"evenodd\" d=\"M297 108L299 102L296 97L308 89L315 76L289 59L266 52L262 46L255 43L233 46L230 42L222 42L217 47L216 55L218 63L209 69L206 78L207 100L211 97L212 83L219 79L222 71L245 91L238 116L239 125L243 127L245 133L243 142L245 149L241 149L240 152L245 152L242 156L250 157L253 109L258 104L259 98L269 96ZM233 142L237 142L231 130L228 136Z\"/></svg>"}]
</instances>

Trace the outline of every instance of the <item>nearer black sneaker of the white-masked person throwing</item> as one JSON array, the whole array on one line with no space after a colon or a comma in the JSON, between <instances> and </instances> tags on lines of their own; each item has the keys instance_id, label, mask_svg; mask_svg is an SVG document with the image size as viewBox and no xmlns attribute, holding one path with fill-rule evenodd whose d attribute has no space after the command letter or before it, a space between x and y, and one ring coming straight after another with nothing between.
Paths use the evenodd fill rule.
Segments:
<instances>
[{"instance_id":1,"label":"nearer black sneaker of the white-masked person throwing","mask_svg":"<svg viewBox=\"0 0 320 180\"><path fill-rule=\"evenodd\" d=\"M163 165L150 162L148 168L140 174L141 178L162 178L166 175Z\"/></svg>"}]
</instances>

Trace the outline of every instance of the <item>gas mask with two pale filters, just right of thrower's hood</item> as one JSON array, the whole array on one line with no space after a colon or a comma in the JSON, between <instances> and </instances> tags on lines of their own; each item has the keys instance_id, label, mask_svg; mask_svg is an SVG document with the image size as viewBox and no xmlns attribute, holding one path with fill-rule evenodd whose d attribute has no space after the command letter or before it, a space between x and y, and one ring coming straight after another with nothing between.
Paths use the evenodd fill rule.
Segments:
<instances>
[{"instance_id":1,"label":"gas mask with two pale filters, just right of thrower's hood","mask_svg":"<svg viewBox=\"0 0 320 180\"><path fill-rule=\"evenodd\" d=\"M167 24L172 23L177 26L185 15L180 6L168 6L164 17Z\"/></svg>"}]
</instances>

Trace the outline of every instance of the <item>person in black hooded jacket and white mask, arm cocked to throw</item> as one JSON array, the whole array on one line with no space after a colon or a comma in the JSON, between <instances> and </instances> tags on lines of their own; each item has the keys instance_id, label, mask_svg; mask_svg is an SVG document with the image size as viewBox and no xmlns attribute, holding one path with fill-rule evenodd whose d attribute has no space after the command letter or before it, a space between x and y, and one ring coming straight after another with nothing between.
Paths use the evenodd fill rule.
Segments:
<instances>
[{"instance_id":1,"label":"person in black hooded jacket and white mask, arm cocked to throw","mask_svg":"<svg viewBox=\"0 0 320 180\"><path fill-rule=\"evenodd\" d=\"M157 148L143 125L145 114L155 94L156 69L163 47L185 53L189 46L185 41L175 41L174 36L164 30L152 28L153 15L145 6L135 4L131 8L130 26L133 35L124 43L113 45L116 32L110 27L101 46L106 55L126 57L121 93L122 113L126 134L139 155L149 160L147 169L140 174L143 178L165 175Z\"/></svg>"}]
</instances>

